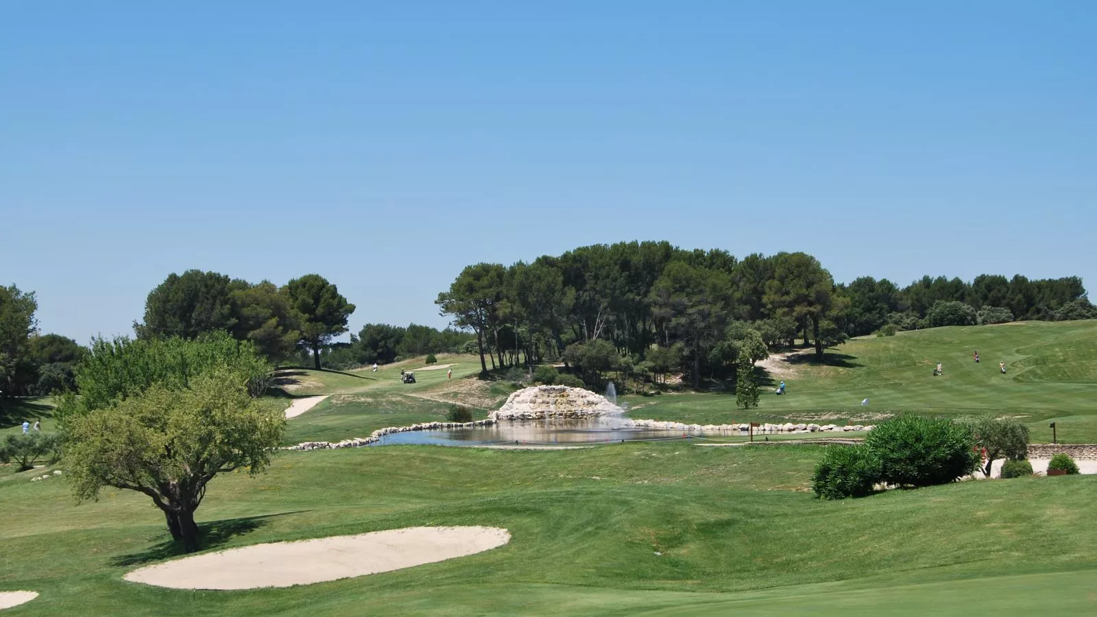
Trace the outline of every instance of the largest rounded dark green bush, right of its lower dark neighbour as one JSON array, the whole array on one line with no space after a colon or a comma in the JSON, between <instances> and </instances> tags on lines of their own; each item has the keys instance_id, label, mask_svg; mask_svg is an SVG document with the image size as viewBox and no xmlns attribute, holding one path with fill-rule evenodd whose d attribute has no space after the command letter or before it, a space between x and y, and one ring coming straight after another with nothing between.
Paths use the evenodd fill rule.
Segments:
<instances>
[{"instance_id":1,"label":"largest rounded dark green bush, right of its lower dark neighbour","mask_svg":"<svg viewBox=\"0 0 1097 617\"><path fill-rule=\"evenodd\" d=\"M864 446L880 459L889 484L948 484L979 467L971 429L943 418L904 415L878 425Z\"/></svg>"}]
</instances>

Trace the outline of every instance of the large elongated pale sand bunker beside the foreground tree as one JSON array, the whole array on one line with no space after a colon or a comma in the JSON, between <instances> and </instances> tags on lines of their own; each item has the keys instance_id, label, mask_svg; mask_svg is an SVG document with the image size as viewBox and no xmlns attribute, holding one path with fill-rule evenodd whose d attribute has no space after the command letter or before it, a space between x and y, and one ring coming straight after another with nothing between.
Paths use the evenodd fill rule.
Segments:
<instances>
[{"instance_id":1,"label":"large elongated pale sand bunker beside the foreground tree","mask_svg":"<svg viewBox=\"0 0 1097 617\"><path fill-rule=\"evenodd\" d=\"M148 565L126 581L177 590L289 587L389 572L501 547L499 527L408 527L297 542L272 542Z\"/></svg>"}]
</instances>

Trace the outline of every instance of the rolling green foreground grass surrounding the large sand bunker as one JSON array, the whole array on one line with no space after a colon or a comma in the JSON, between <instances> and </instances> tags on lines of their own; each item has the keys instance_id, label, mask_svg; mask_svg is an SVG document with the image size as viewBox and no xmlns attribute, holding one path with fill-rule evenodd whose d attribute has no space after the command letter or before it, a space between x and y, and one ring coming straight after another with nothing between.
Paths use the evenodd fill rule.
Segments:
<instances>
[{"instance_id":1,"label":"rolling green foreground grass surrounding the large sand bunker","mask_svg":"<svg viewBox=\"0 0 1097 617\"><path fill-rule=\"evenodd\" d=\"M283 590L127 583L172 554L158 511L110 490L0 476L13 615L1078 615L1097 608L1095 476L966 482L821 502L814 446L565 451L388 447L280 453L216 479L212 548L412 525L491 525L506 547ZM33 473L41 473L37 470ZM661 554L656 554L656 553Z\"/></svg>"}]
</instances>

